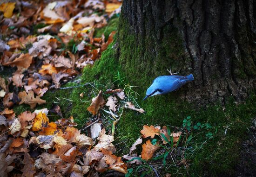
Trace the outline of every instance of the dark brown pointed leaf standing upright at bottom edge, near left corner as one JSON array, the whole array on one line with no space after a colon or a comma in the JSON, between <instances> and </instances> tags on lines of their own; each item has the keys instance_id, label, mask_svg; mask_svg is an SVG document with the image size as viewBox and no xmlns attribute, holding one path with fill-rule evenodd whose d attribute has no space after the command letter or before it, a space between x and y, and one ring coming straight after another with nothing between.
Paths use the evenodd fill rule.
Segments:
<instances>
[{"instance_id":1,"label":"dark brown pointed leaf standing upright at bottom edge, near left corner","mask_svg":"<svg viewBox=\"0 0 256 177\"><path fill-rule=\"evenodd\" d=\"M34 177L35 166L34 166L34 160L30 157L30 155L25 152L24 153L24 160L23 160L24 167L21 170L23 172L21 177Z\"/></svg>"}]
</instances>

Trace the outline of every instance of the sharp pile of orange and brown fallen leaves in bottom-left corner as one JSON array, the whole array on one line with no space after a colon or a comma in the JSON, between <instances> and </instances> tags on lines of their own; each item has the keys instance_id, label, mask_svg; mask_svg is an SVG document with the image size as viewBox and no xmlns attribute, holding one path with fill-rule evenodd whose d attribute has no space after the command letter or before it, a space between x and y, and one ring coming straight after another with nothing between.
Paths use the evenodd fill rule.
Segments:
<instances>
[{"instance_id":1,"label":"sharp pile of orange and brown fallen leaves in bottom-left corner","mask_svg":"<svg viewBox=\"0 0 256 177\"><path fill-rule=\"evenodd\" d=\"M25 111L17 117L8 108L0 112L1 176L82 177L107 170L127 173L121 157L114 155L114 137L104 128L93 140L74 127L73 117L50 122L47 111L41 111Z\"/></svg>"}]
</instances>

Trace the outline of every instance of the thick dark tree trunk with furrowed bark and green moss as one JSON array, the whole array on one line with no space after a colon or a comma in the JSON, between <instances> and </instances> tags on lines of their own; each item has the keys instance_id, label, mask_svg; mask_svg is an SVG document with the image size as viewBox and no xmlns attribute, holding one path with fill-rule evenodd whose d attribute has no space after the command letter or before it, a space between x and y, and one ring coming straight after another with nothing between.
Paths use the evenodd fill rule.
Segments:
<instances>
[{"instance_id":1,"label":"thick dark tree trunk with furrowed bark and green moss","mask_svg":"<svg viewBox=\"0 0 256 177\"><path fill-rule=\"evenodd\" d=\"M256 88L256 1L124 0L119 60L132 84L146 92L153 79L192 73L178 91L201 104Z\"/></svg>"}]
</instances>

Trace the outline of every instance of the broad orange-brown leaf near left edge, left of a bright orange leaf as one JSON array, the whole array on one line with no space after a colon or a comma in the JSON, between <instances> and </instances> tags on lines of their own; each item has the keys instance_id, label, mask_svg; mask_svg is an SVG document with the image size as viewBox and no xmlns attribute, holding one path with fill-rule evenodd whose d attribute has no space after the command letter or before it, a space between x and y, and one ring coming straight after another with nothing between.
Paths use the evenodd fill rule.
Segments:
<instances>
[{"instance_id":1,"label":"broad orange-brown leaf near left edge, left of a bright orange leaf","mask_svg":"<svg viewBox=\"0 0 256 177\"><path fill-rule=\"evenodd\" d=\"M3 65L4 66L11 65L12 67L17 66L18 70L21 70L23 68L27 69L32 63L32 58L33 57L30 56L28 53L26 54L22 53L20 57L15 58L12 62L4 63Z\"/></svg>"}]
</instances>

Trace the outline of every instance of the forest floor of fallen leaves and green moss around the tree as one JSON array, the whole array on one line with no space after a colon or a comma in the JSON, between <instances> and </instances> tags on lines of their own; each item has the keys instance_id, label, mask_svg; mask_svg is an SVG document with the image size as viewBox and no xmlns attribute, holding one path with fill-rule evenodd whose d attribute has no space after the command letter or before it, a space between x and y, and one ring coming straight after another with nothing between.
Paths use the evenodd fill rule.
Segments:
<instances>
[{"instance_id":1,"label":"forest floor of fallen leaves and green moss around the tree","mask_svg":"<svg viewBox=\"0 0 256 177\"><path fill-rule=\"evenodd\" d=\"M255 92L225 107L142 102L118 63L120 6L0 5L0 177L255 176Z\"/></svg>"}]
</instances>

